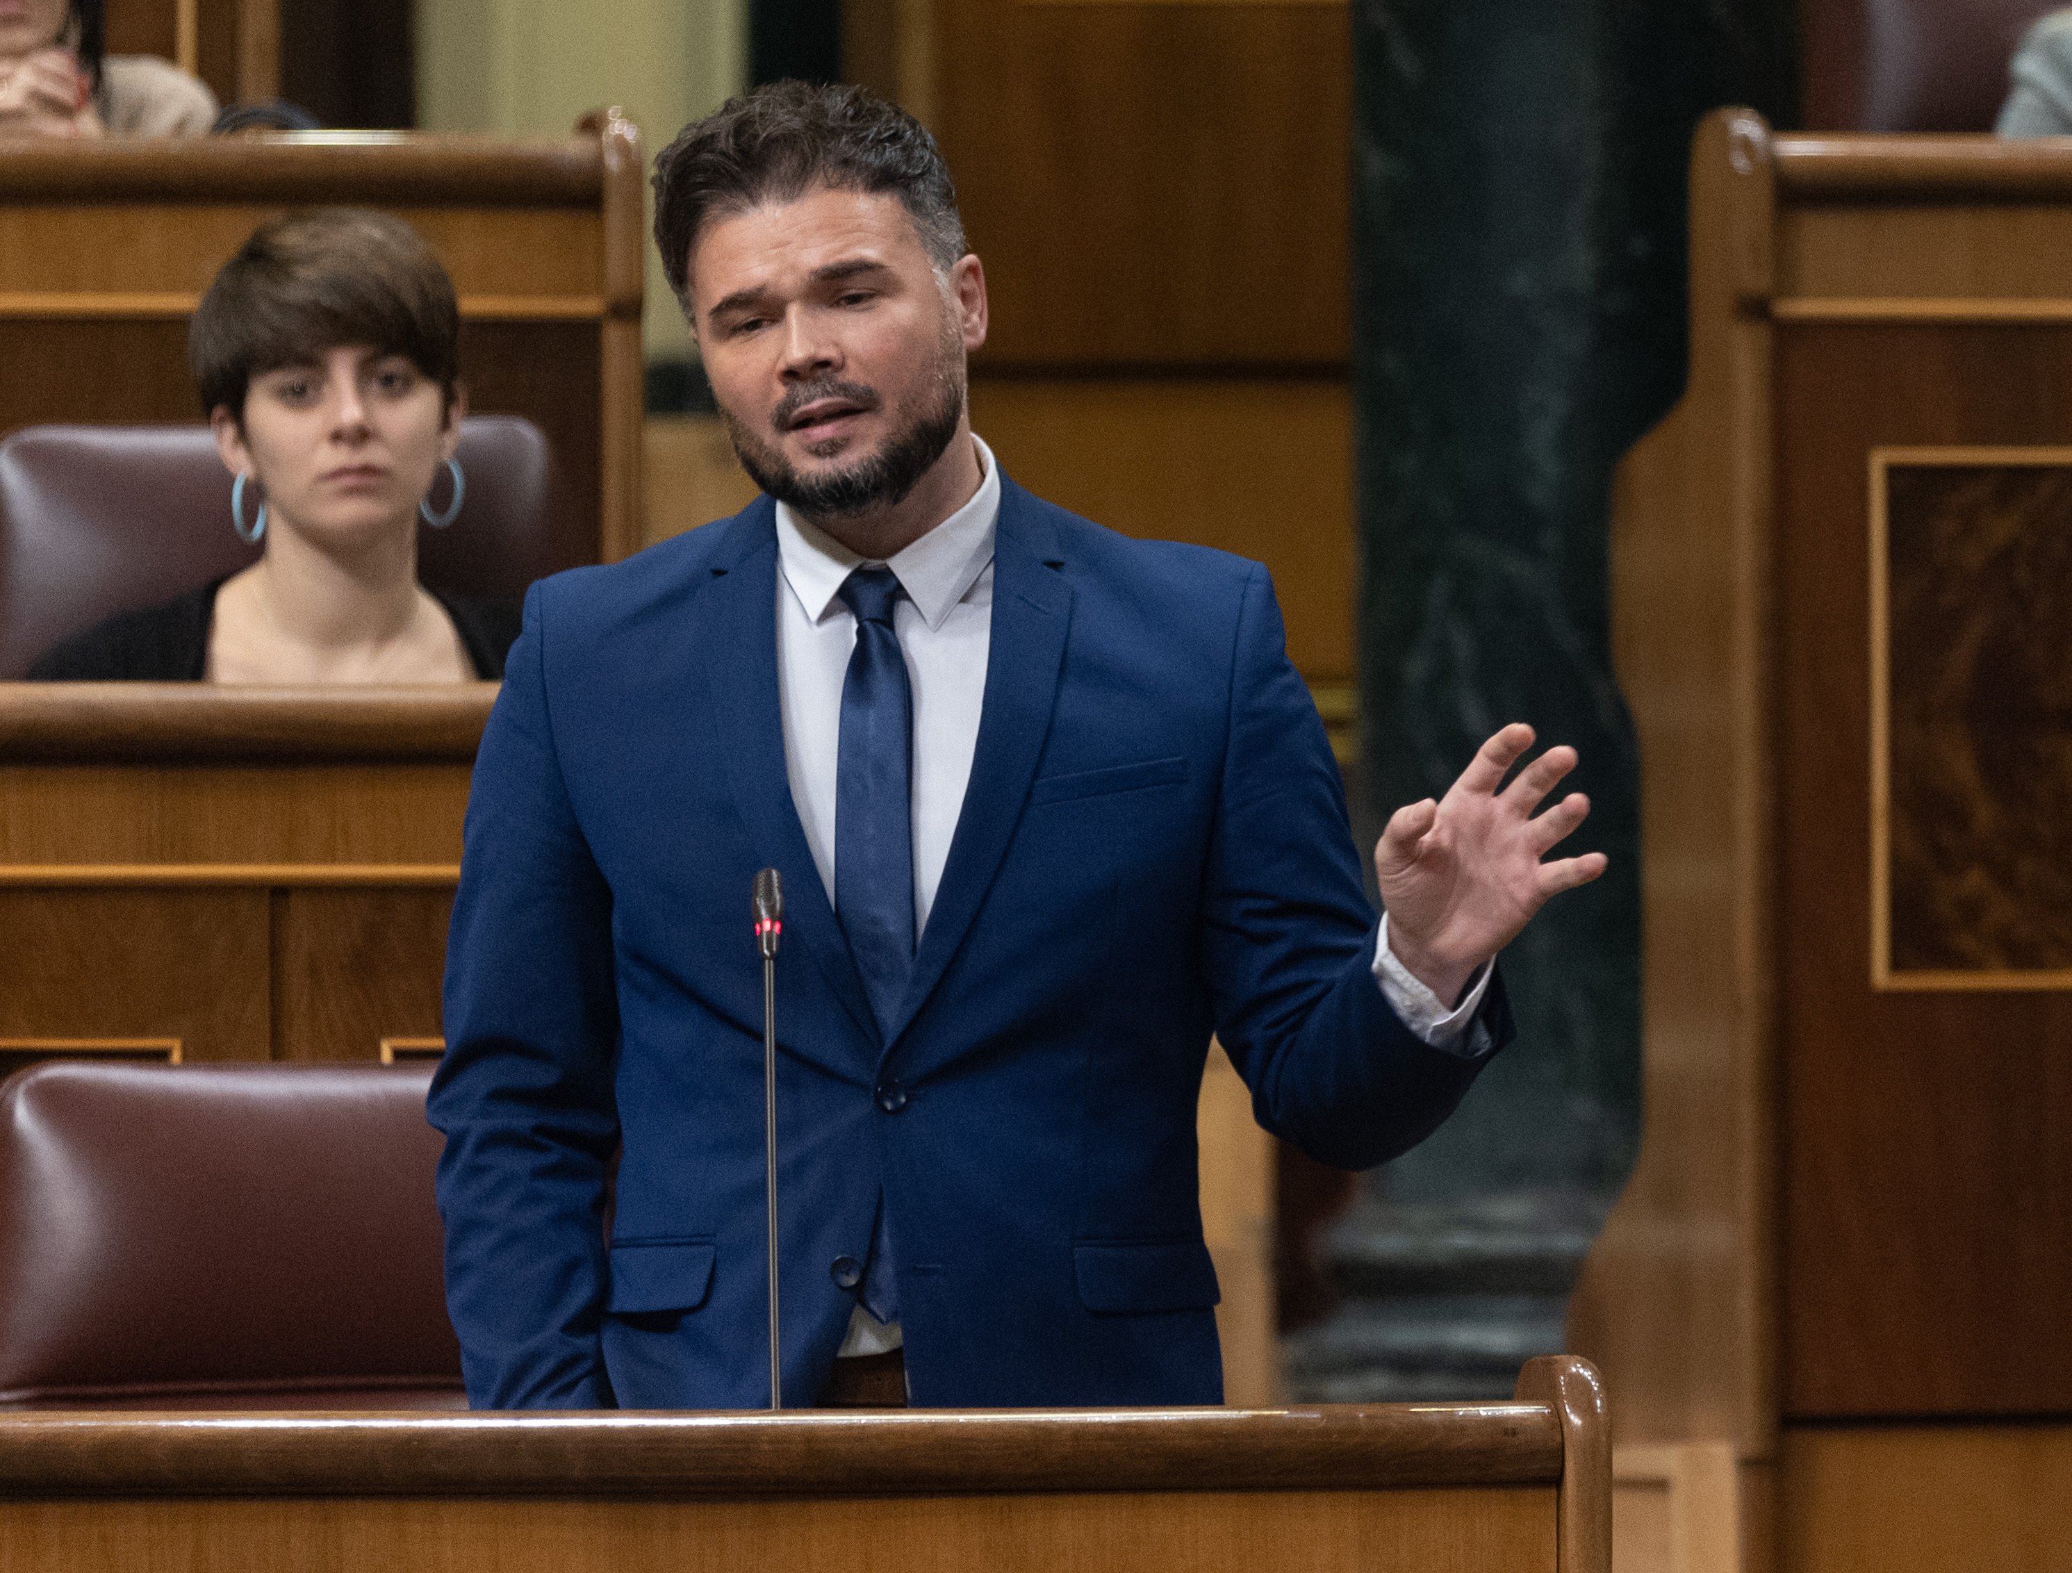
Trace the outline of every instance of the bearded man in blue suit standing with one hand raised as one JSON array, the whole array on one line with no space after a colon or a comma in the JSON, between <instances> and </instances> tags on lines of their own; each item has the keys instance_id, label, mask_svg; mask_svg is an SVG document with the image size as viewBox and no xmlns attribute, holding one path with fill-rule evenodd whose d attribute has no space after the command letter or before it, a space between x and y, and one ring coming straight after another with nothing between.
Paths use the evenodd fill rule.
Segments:
<instances>
[{"instance_id":1,"label":"bearded man in blue suit standing with one hand raised","mask_svg":"<svg viewBox=\"0 0 2072 1573\"><path fill-rule=\"evenodd\" d=\"M1266 572L972 435L984 271L928 135L785 83L655 184L767 495L526 599L431 1092L470 1401L765 1403L775 866L787 1403L1216 1403L1210 1034L1318 1159L1421 1140L1508 1034L1496 951L1604 866L1542 862L1575 754L1502 788L1506 727L1401 810L1376 922Z\"/></svg>"}]
</instances>

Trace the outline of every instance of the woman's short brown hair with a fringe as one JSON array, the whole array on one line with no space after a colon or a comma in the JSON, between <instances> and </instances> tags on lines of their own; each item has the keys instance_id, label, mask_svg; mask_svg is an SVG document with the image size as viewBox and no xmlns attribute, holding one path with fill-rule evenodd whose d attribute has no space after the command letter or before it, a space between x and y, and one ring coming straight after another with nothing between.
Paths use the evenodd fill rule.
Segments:
<instances>
[{"instance_id":1,"label":"woman's short brown hair with a fringe","mask_svg":"<svg viewBox=\"0 0 2072 1573\"><path fill-rule=\"evenodd\" d=\"M365 207L315 207L257 228L186 330L203 412L228 408L240 425L255 375L348 344L406 356L454 402L454 280L416 230Z\"/></svg>"}]
</instances>

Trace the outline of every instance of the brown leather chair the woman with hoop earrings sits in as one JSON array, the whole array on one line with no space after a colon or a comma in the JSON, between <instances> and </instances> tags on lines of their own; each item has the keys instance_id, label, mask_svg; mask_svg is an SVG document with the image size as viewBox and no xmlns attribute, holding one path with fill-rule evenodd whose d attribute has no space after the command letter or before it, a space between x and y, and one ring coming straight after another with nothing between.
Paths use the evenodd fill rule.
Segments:
<instances>
[{"instance_id":1,"label":"brown leather chair the woman with hoop earrings sits in","mask_svg":"<svg viewBox=\"0 0 2072 1573\"><path fill-rule=\"evenodd\" d=\"M448 528L419 528L419 576L516 605L557 566L547 439L512 414L470 414L458 458L468 495ZM445 481L433 491L443 499ZM257 557L230 528L230 475L207 427L23 427L0 441L0 680Z\"/></svg>"}]
</instances>

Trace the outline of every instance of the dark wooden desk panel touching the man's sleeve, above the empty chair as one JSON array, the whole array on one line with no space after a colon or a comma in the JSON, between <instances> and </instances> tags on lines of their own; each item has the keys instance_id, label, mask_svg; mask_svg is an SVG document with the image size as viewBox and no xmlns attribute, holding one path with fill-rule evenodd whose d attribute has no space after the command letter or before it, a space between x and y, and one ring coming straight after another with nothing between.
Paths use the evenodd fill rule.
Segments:
<instances>
[{"instance_id":1,"label":"dark wooden desk panel touching the man's sleeve, above the empty chair","mask_svg":"<svg viewBox=\"0 0 2072 1573\"><path fill-rule=\"evenodd\" d=\"M437 1038L452 910L452 889L278 891L276 1059L381 1059L385 1038Z\"/></svg>"}]
</instances>

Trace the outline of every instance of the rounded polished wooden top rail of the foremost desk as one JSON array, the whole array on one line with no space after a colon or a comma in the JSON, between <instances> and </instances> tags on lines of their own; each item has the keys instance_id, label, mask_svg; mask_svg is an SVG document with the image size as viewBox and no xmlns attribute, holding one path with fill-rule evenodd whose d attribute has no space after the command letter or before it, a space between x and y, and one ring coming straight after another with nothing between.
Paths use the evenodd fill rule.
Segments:
<instances>
[{"instance_id":1,"label":"rounded polished wooden top rail of the foremost desk","mask_svg":"<svg viewBox=\"0 0 2072 1573\"><path fill-rule=\"evenodd\" d=\"M868 1415L41 1411L0 1415L0 1498L1554 1486L1566 1467L1562 1430L1546 1403Z\"/></svg>"}]
</instances>

